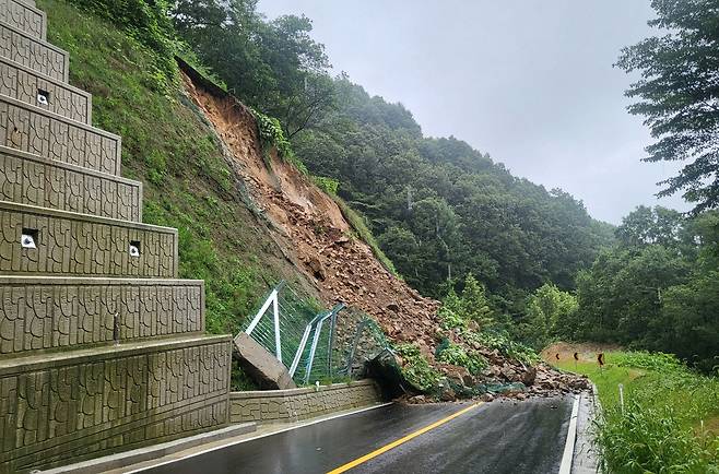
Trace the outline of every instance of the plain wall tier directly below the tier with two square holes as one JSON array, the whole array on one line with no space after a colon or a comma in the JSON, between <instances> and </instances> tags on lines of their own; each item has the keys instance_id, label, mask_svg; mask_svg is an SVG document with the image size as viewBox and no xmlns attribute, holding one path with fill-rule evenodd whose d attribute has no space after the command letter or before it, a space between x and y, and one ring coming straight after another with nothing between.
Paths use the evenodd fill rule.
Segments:
<instances>
[{"instance_id":1,"label":"plain wall tier directly below the tier with two square holes","mask_svg":"<svg viewBox=\"0 0 719 474\"><path fill-rule=\"evenodd\" d=\"M202 331L202 281L0 275L0 360Z\"/></svg>"}]
</instances>

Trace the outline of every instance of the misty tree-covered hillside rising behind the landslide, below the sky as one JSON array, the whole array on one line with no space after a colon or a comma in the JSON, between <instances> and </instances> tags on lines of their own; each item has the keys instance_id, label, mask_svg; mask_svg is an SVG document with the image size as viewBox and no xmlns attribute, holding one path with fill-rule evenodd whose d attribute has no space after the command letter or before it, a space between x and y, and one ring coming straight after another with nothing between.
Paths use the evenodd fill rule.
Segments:
<instances>
[{"instance_id":1,"label":"misty tree-covered hillside rising behind the landslide, below the sky","mask_svg":"<svg viewBox=\"0 0 719 474\"><path fill-rule=\"evenodd\" d=\"M180 36L240 99L278 117L295 156L366 216L381 249L415 288L439 296L473 273L497 305L574 275L608 245L562 190L512 176L455 138L422 134L401 104L331 79L306 17L268 21L256 2L179 2ZM334 182L337 181L337 182ZM510 310L516 312L516 310Z\"/></svg>"}]
</instances>

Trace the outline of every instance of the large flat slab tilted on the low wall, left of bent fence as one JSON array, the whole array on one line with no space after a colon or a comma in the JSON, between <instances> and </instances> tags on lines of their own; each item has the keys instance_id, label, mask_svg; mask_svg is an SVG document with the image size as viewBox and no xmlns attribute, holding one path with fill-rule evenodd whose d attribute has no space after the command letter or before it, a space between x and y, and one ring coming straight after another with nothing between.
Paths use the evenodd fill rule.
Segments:
<instances>
[{"instance_id":1,"label":"large flat slab tilted on the low wall, left of bent fence","mask_svg":"<svg viewBox=\"0 0 719 474\"><path fill-rule=\"evenodd\" d=\"M234 343L239 366L261 390L297 388L287 368L248 334L240 332Z\"/></svg>"}]
</instances>

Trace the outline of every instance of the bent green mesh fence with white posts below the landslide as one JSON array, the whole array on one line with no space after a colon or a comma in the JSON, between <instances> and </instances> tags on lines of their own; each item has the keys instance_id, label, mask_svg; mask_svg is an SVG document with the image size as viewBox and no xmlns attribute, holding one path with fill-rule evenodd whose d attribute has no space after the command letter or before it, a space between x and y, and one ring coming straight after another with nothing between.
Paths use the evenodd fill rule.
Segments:
<instances>
[{"instance_id":1,"label":"bent green mesh fence with white posts below the landslide","mask_svg":"<svg viewBox=\"0 0 719 474\"><path fill-rule=\"evenodd\" d=\"M357 378L364 363L390 348L369 316L338 304L322 309L281 282L245 331L287 367L298 384Z\"/></svg>"}]
</instances>

